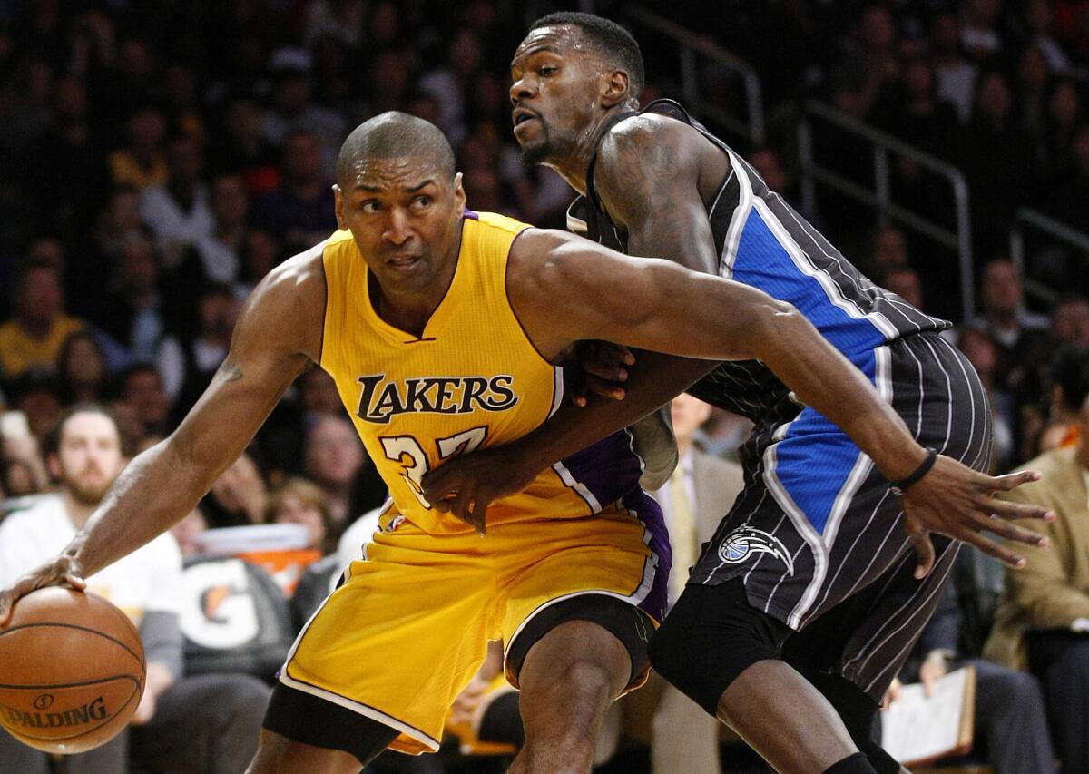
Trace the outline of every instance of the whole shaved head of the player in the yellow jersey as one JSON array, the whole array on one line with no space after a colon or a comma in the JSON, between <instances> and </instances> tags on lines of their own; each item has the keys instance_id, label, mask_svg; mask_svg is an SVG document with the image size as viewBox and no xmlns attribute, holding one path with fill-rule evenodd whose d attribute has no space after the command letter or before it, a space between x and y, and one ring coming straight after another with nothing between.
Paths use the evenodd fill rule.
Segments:
<instances>
[{"instance_id":1,"label":"whole shaved head of the player in the yellow jersey","mask_svg":"<svg viewBox=\"0 0 1089 774\"><path fill-rule=\"evenodd\" d=\"M382 287L426 288L453 259L465 192L439 128L390 111L357 126L337 159L337 222Z\"/></svg>"}]
</instances>

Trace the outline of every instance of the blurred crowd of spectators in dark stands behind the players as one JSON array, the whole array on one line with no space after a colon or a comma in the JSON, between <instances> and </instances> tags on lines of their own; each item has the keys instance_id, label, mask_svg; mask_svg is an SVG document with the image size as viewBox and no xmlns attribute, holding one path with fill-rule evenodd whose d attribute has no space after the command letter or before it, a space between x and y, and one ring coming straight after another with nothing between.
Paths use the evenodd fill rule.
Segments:
<instances>
[{"instance_id":1,"label":"blurred crowd of spectators in dark stands behind the players","mask_svg":"<svg viewBox=\"0 0 1089 774\"><path fill-rule=\"evenodd\" d=\"M563 228L570 189L519 163L507 65L529 21L583 4L0 0L0 499L56 488L44 449L65 407L108 405L126 455L176 427L254 285L335 229L340 143L377 113L438 124L472 208ZM951 300L954 259L909 229L833 196L806 214L871 279L956 323L950 335L991 393L994 470L1076 443L1089 255L1032 250L1028 270L1051 292L1027 298L1008 234L1025 205L1087 228L1089 0L723 0L710 15L703 3L639 4L755 65L771 139L724 136L796 207L807 98L964 171L978 298L967 319ZM594 5L624 21L625 3ZM680 97L656 77L673 54L644 48L645 99ZM713 67L701 77L733 99ZM817 139L845 176L868 174L851 142ZM892 175L897 200L947 218L929 173L898 158ZM698 439L729 456L745 433L714 413ZM294 523L308 549L331 554L384 496L314 368L175 537L192 556L210 528Z\"/></svg>"}]
</instances>

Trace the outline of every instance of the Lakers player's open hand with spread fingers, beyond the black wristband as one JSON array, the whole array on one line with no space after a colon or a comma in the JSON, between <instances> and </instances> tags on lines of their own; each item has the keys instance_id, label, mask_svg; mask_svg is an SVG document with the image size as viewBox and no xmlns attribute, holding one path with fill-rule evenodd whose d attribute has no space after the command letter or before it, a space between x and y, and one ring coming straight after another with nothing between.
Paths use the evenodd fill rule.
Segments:
<instances>
[{"instance_id":1,"label":"Lakers player's open hand with spread fingers, beyond the black wristband","mask_svg":"<svg viewBox=\"0 0 1089 774\"><path fill-rule=\"evenodd\" d=\"M995 492L1008 492L1039 479L1040 475L1030 470L988 476L939 455L934 467L903 495L904 523L918 558L915 577L926 577L934 566L930 532L971 543L1011 567L1024 567L1024 557L983 532L993 532L1026 545L1047 545L1047 538L1010 521L1023 518L1051 520L1055 518L1053 512L1039 505L1013 503L994 496Z\"/></svg>"}]
</instances>

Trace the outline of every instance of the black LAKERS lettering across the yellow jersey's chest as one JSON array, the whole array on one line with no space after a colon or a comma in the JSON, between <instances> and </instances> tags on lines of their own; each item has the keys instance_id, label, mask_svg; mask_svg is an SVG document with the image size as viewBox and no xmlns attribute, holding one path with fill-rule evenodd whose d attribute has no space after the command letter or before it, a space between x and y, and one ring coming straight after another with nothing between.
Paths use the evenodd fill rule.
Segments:
<instances>
[{"instance_id":1,"label":"black LAKERS lettering across the yellow jersey's chest","mask_svg":"<svg viewBox=\"0 0 1089 774\"><path fill-rule=\"evenodd\" d=\"M384 373L359 377L359 419L388 425L400 414L502 411L518 402L514 377L423 377L388 380Z\"/></svg>"}]
</instances>

